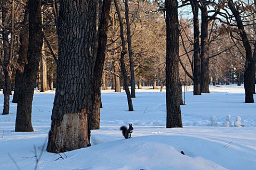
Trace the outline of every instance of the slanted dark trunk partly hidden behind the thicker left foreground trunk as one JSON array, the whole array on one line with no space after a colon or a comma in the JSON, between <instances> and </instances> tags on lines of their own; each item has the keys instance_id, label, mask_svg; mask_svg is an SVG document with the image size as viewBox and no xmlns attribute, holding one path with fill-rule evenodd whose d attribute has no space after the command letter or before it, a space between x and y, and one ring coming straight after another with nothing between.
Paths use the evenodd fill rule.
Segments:
<instances>
[{"instance_id":1,"label":"slanted dark trunk partly hidden behind the thicker left foreground trunk","mask_svg":"<svg viewBox=\"0 0 256 170\"><path fill-rule=\"evenodd\" d=\"M13 93L13 103L18 103L19 100L19 89L22 83L22 77L24 72L25 64L28 63L27 54L28 54L28 37L29 37L29 18L28 18L28 8L25 11L25 16L23 20L23 27L20 31L20 50L18 58L18 68L16 69L15 74L15 83L14 83L14 93Z\"/></svg>"}]
</instances>

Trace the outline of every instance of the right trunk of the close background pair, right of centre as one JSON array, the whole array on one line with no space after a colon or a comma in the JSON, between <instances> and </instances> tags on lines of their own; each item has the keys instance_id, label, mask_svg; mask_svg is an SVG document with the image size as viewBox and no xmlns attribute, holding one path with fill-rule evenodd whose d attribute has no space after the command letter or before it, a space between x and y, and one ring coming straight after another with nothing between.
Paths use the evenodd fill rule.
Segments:
<instances>
[{"instance_id":1,"label":"right trunk of the close background pair, right of centre","mask_svg":"<svg viewBox=\"0 0 256 170\"><path fill-rule=\"evenodd\" d=\"M209 90L209 43L208 43L208 11L206 0L201 3L201 93Z\"/></svg>"}]
</instances>

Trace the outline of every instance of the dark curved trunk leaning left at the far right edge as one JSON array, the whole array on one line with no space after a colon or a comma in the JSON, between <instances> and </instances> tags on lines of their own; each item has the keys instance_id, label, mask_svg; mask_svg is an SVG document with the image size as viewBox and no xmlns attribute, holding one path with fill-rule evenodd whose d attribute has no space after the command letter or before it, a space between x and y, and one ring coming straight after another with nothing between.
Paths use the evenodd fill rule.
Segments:
<instances>
[{"instance_id":1,"label":"dark curved trunk leaning left at the far right edge","mask_svg":"<svg viewBox=\"0 0 256 170\"><path fill-rule=\"evenodd\" d=\"M246 60L244 68L244 90L245 90L245 103L254 103L253 93L255 92L255 60L256 55L252 55L252 47L249 43L243 21L241 19L240 13L237 11L233 1L228 1L228 7L233 13L237 27L239 29L239 34L242 38L242 42L245 48Z\"/></svg>"}]
</instances>

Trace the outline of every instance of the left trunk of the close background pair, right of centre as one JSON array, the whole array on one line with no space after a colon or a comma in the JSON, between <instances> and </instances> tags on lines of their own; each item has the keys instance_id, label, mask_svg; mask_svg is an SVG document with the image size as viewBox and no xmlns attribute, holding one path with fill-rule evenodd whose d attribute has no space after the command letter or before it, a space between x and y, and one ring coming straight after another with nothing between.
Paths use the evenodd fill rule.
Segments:
<instances>
[{"instance_id":1,"label":"left trunk of the close background pair, right of centre","mask_svg":"<svg viewBox=\"0 0 256 170\"><path fill-rule=\"evenodd\" d=\"M194 21L194 54L193 54L193 59L194 59L194 78L193 78L193 83L194 83L194 95L201 95L201 90L200 90L200 56L199 56L199 20L198 20L198 2L197 0L190 0L192 11L193 11L193 21Z\"/></svg>"}]
</instances>

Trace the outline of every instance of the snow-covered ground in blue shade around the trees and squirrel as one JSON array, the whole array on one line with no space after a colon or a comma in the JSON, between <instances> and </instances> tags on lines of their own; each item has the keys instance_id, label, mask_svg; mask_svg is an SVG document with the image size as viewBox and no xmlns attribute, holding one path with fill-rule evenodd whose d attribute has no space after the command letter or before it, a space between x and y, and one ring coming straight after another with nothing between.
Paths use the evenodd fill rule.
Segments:
<instances>
[{"instance_id":1,"label":"snow-covered ground in blue shade around the trees and squirrel","mask_svg":"<svg viewBox=\"0 0 256 170\"><path fill-rule=\"evenodd\" d=\"M211 94L201 96L191 90L181 106L184 127L169 129L165 92L137 90L135 111L129 112L124 92L103 91L101 128L92 131L92 147L60 155L45 151L54 92L35 92L35 132L14 132L16 104L10 115L0 115L0 169L35 169L41 153L37 169L256 169L256 103L244 103L243 86L211 87ZM223 127L229 114L232 126ZM237 116L244 127L234 127ZM134 131L125 140L119 127L128 123Z\"/></svg>"}]
</instances>

